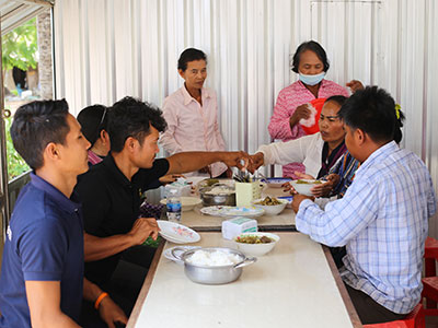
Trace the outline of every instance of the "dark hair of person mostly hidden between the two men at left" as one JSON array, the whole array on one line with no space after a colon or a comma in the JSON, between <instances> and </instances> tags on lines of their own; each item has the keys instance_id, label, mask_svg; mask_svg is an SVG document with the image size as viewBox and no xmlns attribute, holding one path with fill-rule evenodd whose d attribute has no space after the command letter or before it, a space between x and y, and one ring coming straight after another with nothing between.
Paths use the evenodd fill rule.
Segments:
<instances>
[{"instance_id":1,"label":"dark hair of person mostly hidden between the two men at left","mask_svg":"<svg viewBox=\"0 0 438 328\"><path fill-rule=\"evenodd\" d=\"M102 130L107 130L108 107L103 105L93 105L83 108L78 114L78 121L81 125L82 133L93 145Z\"/></svg>"}]
</instances>

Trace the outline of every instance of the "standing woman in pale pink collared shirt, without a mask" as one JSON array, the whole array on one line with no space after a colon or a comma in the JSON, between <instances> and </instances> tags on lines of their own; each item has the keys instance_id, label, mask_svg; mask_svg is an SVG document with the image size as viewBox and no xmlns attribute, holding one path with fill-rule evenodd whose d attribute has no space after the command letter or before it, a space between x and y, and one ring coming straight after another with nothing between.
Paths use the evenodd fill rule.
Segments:
<instances>
[{"instance_id":1,"label":"standing woman in pale pink collared shirt, without a mask","mask_svg":"<svg viewBox=\"0 0 438 328\"><path fill-rule=\"evenodd\" d=\"M177 69L185 83L164 99L163 116L168 129L160 137L161 147L170 155L187 151L224 151L226 143L217 118L216 93L203 86L207 79L206 55L195 48L185 49L180 56ZM215 163L199 173L218 177L226 176L227 171L223 163Z\"/></svg>"}]
</instances>

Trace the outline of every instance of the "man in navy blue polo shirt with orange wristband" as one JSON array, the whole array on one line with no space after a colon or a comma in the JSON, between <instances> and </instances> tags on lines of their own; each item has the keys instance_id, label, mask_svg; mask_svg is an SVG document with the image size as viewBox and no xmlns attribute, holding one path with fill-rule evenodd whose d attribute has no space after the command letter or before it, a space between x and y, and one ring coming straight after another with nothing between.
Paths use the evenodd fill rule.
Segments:
<instances>
[{"instance_id":1,"label":"man in navy blue polo shirt with orange wristband","mask_svg":"<svg viewBox=\"0 0 438 328\"><path fill-rule=\"evenodd\" d=\"M0 278L0 327L79 327L81 300L96 302L110 327L126 316L83 279L81 209L72 191L88 169L80 125L66 101L20 107L14 148L34 169L8 227Z\"/></svg>"}]
</instances>

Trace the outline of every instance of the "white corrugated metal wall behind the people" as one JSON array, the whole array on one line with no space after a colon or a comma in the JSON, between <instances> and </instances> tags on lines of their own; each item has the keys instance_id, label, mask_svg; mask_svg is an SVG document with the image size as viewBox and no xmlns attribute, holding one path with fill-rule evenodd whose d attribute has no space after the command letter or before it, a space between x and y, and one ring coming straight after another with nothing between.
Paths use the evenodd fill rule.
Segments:
<instances>
[{"instance_id":1,"label":"white corrugated metal wall behind the people","mask_svg":"<svg viewBox=\"0 0 438 328\"><path fill-rule=\"evenodd\" d=\"M78 113L125 95L161 106L182 85L178 55L208 55L230 150L270 138L278 92L296 80L290 56L310 38L327 51L327 78L387 89L406 114L403 145L438 186L438 4L435 0L57 0L57 97ZM438 225L431 222L433 235Z\"/></svg>"}]
</instances>

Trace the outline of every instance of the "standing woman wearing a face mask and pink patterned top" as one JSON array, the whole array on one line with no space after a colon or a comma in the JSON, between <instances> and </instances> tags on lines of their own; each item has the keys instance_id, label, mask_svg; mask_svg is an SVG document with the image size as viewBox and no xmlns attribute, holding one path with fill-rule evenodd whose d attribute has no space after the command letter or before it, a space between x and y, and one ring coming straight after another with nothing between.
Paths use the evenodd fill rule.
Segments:
<instances>
[{"instance_id":1,"label":"standing woman wearing a face mask and pink patterned top","mask_svg":"<svg viewBox=\"0 0 438 328\"><path fill-rule=\"evenodd\" d=\"M302 43L293 55L292 71L299 74L299 80L285 87L278 94L274 115L268 126L273 139L288 141L306 136L299 125L300 119L307 119L310 110L307 105L315 98L327 98L332 95L348 96L345 87L325 80L330 67L325 50L314 40ZM359 81L353 80L346 84L351 92L362 89ZM283 166L285 177L298 178L295 172L304 173L302 163L290 163Z\"/></svg>"}]
</instances>

